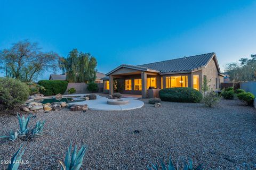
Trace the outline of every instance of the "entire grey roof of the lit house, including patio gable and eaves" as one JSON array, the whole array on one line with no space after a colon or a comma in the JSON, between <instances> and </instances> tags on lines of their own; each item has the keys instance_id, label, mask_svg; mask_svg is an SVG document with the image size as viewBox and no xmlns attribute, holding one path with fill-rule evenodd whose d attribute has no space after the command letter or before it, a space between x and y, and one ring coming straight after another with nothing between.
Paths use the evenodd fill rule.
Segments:
<instances>
[{"instance_id":1,"label":"entire grey roof of the lit house, including patio gable and eaves","mask_svg":"<svg viewBox=\"0 0 256 170\"><path fill-rule=\"evenodd\" d=\"M217 70L218 72L220 72L219 64L218 64L215 53L207 53L207 54L201 54L201 55L195 55L195 56L189 56L189 57L175 58L172 60L166 60L166 61L155 62L155 63L141 64L136 66L122 64L116 67L116 69L107 73L106 75L109 75L115 72L121 67L127 67L130 69L141 70L141 71L158 72L159 74L174 73L174 72L191 72L191 71L206 67L213 57L214 57L214 62L217 66Z\"/></svg>"}]
</instances>

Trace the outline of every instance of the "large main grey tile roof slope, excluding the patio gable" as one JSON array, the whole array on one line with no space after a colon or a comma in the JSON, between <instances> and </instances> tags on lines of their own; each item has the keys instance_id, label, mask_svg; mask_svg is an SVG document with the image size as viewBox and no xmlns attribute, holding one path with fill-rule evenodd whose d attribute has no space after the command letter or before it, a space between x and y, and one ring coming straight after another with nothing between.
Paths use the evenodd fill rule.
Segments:
<instances>
[{"instance_id":1,"label":"large main grey tile roof slope, excluding the patio gable","mask_svg":"<svg viewBox=\"0 0 256 170\"><path fill-rule=\"evenodd\" d=\"M197 67L206 66L214 55L215 53L207 53L137 66L146 67L151 70L158 70L160 73L191 71Z\"/></svg>"}]
</instances>

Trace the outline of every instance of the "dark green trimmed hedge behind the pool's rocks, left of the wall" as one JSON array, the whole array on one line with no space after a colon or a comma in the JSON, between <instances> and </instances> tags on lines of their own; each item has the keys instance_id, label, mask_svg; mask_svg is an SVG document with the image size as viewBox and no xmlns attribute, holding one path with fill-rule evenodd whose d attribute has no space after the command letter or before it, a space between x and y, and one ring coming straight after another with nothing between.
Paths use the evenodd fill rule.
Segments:
<instances>
[{"instance_id":1,"label":"dark green trimmed hedge behind the pool's rocks, left of the wall","mask_svg":"<svg viewBox=\"0 0 256 170\"><path fill-rule=\"evenodd\" d=\"M38 84L45 88L45 90L39 90L45 96L63 94L68 87L68 82L63 80L40 80Z\"/></svg>"}]
</instances>

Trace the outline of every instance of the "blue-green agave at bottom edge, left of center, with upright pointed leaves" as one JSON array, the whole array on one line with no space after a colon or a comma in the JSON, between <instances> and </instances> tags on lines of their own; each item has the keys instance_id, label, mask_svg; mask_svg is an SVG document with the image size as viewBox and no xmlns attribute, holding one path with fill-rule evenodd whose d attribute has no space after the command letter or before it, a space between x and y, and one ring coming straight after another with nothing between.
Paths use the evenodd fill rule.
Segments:
<instances>
[{"instance_id":1,"label":"blue-green agave at bottom edge, left of center, with upright pointed leaves","mask_svg":"<svg viewBox=\"0 0 256 170\"><path fill-rule=\"evenodd\" d=\"M83 158L84 158L87 146L83 145L82 148L78 151L78 153L76 152L77 147L75 146L75 149L74 149L72 155L70 156L71 148L72 148L72 146L70 143L70 146L67 150L67 154L65 157L65 162L63 163L59 160L59 162L62 166L61 170L79 170L81 168L81 166L83 165Z\"/></svg>"}]
</instances>

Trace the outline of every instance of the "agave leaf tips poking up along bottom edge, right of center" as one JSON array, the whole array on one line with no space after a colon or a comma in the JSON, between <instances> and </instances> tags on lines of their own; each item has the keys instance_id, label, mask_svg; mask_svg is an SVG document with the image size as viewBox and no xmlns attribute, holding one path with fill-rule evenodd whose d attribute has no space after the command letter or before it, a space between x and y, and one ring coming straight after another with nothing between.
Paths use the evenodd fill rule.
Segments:
<instances>
[{"instance_id":1,"label":"agave leaf tips poking up along bottom edge, right of center","mask_svg":"<svg viewBox=\"0 0 256 170\"><path fill-rule=\"evenodd\" d=\"M169 165L168 165L168 166L166 166L166 165L163 163L163 160L160 160L160 163L161 163L161 166L162 166L162 169L163 169L163 170L175 170L174 165L173 165L173 163L172 163L172 158L171 158L171 156L170 156L170 158L169 158ZM155 165L152 164L151 166L152 166L152 167L147 166L147 169L148 169L148 170L158 170L158 169L159 169L158 166L157 166L157 164L155 164ZM194 167L194 166L193 166L193 162L192 162L191 159L189 159L189 162L188 162L188 163L185 163L185 165L184 165L184 167L183 167L183 170L203 170L203 169L204 169L204 168L203 168L202 165L199 165L199 166L197 166L197 167ZM177 162L177 165L176 165L176 170L179 170L178 162Z\"/></svg>"}]
</instances>

